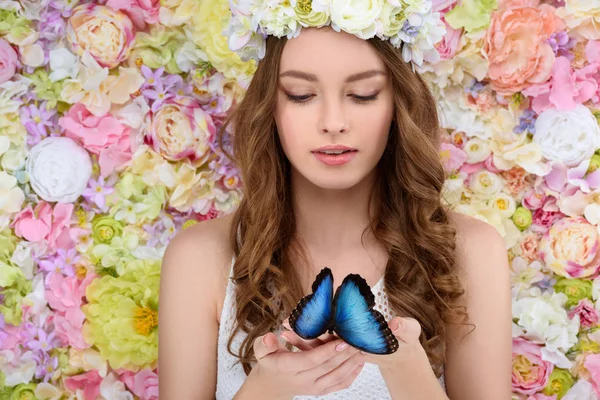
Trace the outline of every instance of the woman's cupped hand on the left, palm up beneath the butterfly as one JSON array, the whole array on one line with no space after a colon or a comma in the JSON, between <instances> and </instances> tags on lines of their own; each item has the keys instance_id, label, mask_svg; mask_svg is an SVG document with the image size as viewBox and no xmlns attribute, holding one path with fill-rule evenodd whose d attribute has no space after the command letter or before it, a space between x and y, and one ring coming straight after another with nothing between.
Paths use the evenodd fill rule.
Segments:
<instances>
[{"instance_id":1,"label":"woman's cupped hand on the left, palm up beneath the butterfly","mask_svg":"<svg viewBox=\"0 0 600 400\"><path fill-rule=\"evenodd\" d=\"M267 333L254 341L254 354L257 363L244 383L247 387L240 392L260 391L261 398L268 399L287 400L345 389L364 365L360 351L340 339L291 352L274 333Z\"/></svg>"}]
</instances>

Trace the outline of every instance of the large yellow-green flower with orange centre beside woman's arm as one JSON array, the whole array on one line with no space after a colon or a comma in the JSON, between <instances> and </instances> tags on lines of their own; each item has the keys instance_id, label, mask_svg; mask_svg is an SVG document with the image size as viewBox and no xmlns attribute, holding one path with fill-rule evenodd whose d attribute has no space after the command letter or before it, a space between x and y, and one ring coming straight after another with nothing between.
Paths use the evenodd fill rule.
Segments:
<instances>
[{"instance_id":1,"label":"large yellow-green flower with orange centre beside woman's arm","mask_svg":"<svg viewBox=\"0 0 600 400\"><path fill-rule=\"evenodd\" d=\"M106 275L88 286L83 337L112 368L155 367L159 283L160 261L135 260L122 276Z\"/></svg>"}]
</instances>

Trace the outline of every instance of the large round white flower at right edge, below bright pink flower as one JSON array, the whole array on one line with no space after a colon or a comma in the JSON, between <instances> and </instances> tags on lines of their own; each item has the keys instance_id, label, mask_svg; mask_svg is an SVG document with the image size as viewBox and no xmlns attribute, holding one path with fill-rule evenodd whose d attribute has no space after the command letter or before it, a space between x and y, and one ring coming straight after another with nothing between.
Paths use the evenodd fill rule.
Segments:
<instances>
[{"instance_id":1,"label":"large round white flower at right edge, below bright pink flower","mask_svg":"<svg viewBox=\"0 0 600 400\"><path fill-rule=\"evenodd\" d=\"M581 104L572 111L548 109L535 122L533 141L548 160L575 167L600 146L600 127L594 114Z\"/></svg>"}]
</instances>

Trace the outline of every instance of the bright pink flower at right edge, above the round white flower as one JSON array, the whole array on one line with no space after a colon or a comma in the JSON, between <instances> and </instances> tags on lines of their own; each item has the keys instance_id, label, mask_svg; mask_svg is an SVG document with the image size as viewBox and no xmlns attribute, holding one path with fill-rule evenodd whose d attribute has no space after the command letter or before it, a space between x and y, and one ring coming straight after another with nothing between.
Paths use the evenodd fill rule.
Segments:
<instances>
[{"instance_id":1,"label":"bright pink flower at right edge, above the round white flower","mask_svg":"<svg viewBox=\"0 0 600 400\"><path fill-rule=\"evenodd\" d=\"M549 108L570 111L596 95L599 84L595 75L599 71L600 62L573 71L568 58L558 57L550 81L531 85L522 92L533 97L531 108L538 114Z\"/></svg>"}]
</instances>

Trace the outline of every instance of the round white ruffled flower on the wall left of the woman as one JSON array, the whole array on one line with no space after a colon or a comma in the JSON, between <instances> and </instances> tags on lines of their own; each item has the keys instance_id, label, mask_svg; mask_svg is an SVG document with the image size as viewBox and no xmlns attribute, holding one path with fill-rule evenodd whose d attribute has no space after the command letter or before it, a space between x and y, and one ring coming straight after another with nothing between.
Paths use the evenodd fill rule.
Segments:
<instances>
[{"instance_id":1,"label":"round white ruffled flower on the wall left of the woman","mask_svg":"<svg viewBox=\"0 0 600 400\"><path fill-rule=\"evenodd\" d=\"M61 203L77 200L92 175L87 151L66 137L49 137L35 145L25 167L37 195Z\"/></svg>"}]
</instances>

